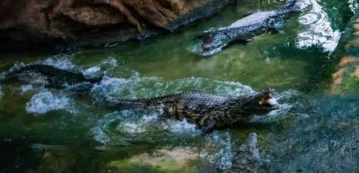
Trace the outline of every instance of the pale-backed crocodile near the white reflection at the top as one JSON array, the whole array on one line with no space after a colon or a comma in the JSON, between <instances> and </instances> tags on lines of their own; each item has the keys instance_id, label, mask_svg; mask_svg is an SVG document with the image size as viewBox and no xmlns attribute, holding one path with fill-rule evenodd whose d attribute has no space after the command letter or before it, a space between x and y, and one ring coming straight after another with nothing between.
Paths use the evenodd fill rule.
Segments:
<instances>
[{"instance_id":1,"label":"pale-backed crocodile near the white reflection at the top","mask_svg":"<svg viewBox=\"0 0 359 173\"><path fill-rule=\"evenodd\" d=\"M256 10L226 27L207 31L202 35L203 51L209 52L233 42L245 41L264 32L280 30L283 28L284 19L300 10L296 0L286 3L287 5L280 9Z\"/></svg>"}]
</instances>

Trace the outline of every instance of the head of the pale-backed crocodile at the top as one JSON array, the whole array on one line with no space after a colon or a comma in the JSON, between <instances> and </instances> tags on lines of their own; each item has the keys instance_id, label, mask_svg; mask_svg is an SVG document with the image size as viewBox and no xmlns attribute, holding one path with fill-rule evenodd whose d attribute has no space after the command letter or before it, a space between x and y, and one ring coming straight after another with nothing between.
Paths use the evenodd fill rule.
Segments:
<instances>
[{"instance_id":1,"label":"head of the pale-backed crocodile at the top","mask_svg":"<svg viewBox=\"0 0 359 173\"><path fill-rule=\"evenodd\" d=\"M212 31L203 37L202 49L206 52L228 43L228 36L220 31Z\"/></svg>"}]
</instances>

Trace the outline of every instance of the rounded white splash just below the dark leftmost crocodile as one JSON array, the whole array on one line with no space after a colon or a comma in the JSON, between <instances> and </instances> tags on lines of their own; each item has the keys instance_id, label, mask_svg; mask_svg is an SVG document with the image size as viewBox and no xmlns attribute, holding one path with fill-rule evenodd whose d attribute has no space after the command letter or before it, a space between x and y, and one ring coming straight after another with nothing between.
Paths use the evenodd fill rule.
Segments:
<instances>
[{"instance_id":1,"label":"rounded white splash just below the dark leftmost crocodile","mask_svg":"<svg viewBox=\"0 0 359 173\"><path fill-rule=\"evenodd\" d=\"M44 90L41 93L34 94L31 100L26 103L26 111L34 115L43 114L51 110L66 110L73 107L74 102L65 95L54 95Z\"/></svg>"}]
</instances>

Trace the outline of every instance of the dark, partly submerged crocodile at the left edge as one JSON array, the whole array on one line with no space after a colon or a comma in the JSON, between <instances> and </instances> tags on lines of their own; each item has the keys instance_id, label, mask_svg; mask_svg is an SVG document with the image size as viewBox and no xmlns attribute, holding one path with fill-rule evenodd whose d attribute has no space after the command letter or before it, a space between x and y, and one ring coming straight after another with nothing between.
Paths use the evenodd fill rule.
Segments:
<instances>
[{"instance_id":1,"label":"dark, partly submerged crocodile at the left edge","mask_svg":"<svg viewBox=\"0 0 359 173\"><path fill-rule=\"evenodd\" d=\"M82 73L70 72L64 69L56 68L52 65L30 64L5 73L0 81L7 81L22 73L31 72L44 75L47 79L47 83L44 83L43 85L57 89L64 88L64 84L74 85L81 82L90 82L91 84L99 83L103 78L103 74L94 78L85 78Z\"/></svg>"}]
</instances>

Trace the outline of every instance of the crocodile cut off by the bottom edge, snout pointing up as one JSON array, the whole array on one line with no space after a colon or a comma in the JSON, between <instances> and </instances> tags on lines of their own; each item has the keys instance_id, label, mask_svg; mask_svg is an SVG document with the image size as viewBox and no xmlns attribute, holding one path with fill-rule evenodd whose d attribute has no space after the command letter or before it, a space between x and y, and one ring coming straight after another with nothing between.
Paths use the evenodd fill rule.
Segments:
<instances>
[{"instance_id":1,"label":"crocodile cut off by the bottom edge, snout pointing up","mask_svg":"<svg viewBox=\"0 0 359 173\"><path fill-rule=\"evenodd\" d=\"M245 143L232 157L232 166L223 173L257 173L260 166L257 138L255 132L249 133Z\"/></svg>"}]
</instances>

